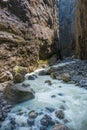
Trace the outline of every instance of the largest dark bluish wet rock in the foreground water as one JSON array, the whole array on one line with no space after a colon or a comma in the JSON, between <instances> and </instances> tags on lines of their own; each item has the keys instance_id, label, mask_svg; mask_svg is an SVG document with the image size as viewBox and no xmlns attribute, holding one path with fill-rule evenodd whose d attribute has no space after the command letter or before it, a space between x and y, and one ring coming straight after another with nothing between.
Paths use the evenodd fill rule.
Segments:
<instances>
[{"instance_id":1,"label":"largest dark bluish wet rock in the foreground water","mask_svg":"<svg viewBox=\"0 0 87 130\"><path fill-rule=\"evenodd\" d=\"M44 115L40 120L40 123L41 125L46 127L55 124L55 122L52 120L52 118L49 115Z\"/></svg>"}]
</instances>

